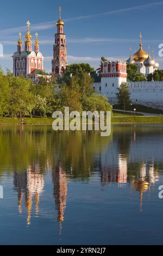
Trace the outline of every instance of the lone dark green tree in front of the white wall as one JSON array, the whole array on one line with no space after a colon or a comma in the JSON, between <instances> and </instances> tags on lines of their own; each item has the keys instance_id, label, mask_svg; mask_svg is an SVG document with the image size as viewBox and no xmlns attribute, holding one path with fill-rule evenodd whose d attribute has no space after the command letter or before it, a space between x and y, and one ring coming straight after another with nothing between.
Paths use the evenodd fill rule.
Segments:
<instances>
[{"instance_id":1,"label":"lone dark green tree in front of the white wall","mask_svg":"<svg viewBox=\"0 0 163 256\"><path fill-rule=\"evenodd\" d=\"M122 83L120 88L117 88L118 93L117 93L117 99L118 99L118 104L120 104L124 112L126 108L131 104L130 100L130 92L127 86L127 83Z\"/></svg>"}]
</instances>

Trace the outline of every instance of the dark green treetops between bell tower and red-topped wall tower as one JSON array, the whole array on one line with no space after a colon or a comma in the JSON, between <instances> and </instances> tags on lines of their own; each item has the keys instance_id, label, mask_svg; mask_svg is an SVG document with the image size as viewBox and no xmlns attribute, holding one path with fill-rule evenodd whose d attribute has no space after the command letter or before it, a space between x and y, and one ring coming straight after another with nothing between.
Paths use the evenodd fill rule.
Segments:
<instances>
[{"instance_id":1,"label":"dark green treetops between bell tower and red-topped wall tower","mask_svg":"<svg viewBox=\"0 0 163 256\"><path fill-rule=\"evenodd\" d=\"M90 66L88 63L74 63L71 65L68 65L66 67L66 76L70 76L70 74L79 75L83 73L95 73L95 69Z\"/></svg>"}]
</instances>

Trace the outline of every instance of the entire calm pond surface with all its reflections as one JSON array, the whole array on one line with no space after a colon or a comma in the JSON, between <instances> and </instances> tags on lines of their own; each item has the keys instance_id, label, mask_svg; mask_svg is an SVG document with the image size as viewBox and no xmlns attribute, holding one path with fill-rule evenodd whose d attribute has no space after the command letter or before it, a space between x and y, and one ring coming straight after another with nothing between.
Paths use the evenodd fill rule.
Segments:
<instances>
[{"instance_id":1,"label":"entire calm pond surface with all its reflections","mask_svg":"<svg viewBox=\"0 0 163 256\"><path fill-rule=\"evenodd\" d=\"M0 127L1 245L162 245L163 126Z\"/></svg>"}]
</instances>

